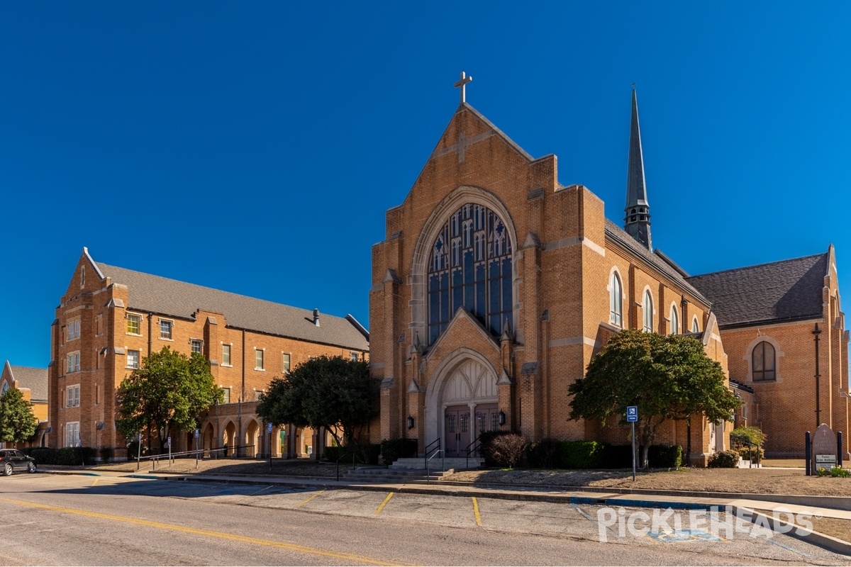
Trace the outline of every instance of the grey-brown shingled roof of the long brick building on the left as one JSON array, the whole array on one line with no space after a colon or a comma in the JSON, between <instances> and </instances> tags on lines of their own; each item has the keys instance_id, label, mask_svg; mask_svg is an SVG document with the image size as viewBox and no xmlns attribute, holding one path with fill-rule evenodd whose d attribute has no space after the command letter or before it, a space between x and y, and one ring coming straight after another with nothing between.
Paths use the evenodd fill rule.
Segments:
<instances>
[{"instance_id":1,"label":"grey-brown shingled roof of the long brick building on the left","mask_svg":"<svg viewBox=\"0 0 851 567\"><path fill-rule=\"evenodd\" d=\"M198 309L221 313L227 325L248 331L293 337L312 343L368 350L368 332L351 315L346 318L320 315L313 324L313 312L282 303L248 298L186 281L95 263L100 273L114 284L128 287L128 309L194 319Z\"/></svg>"}]
</instances>

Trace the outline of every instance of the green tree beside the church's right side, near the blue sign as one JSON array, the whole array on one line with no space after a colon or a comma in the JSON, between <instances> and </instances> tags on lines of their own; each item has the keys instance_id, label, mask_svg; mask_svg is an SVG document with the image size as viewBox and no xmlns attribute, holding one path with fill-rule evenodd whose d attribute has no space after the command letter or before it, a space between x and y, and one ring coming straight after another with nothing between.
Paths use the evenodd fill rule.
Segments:
<instances>
[{"instance_id":1,"label":"green tree beside the church's right side, near the blue sign","mask_svg":"<svg viewBox=\"0 0 851 567\"><path fill-rule=\"evenodd\" d=\"M568 387L571 419L610 416L626 424L626 407L638 406L636 437L642 467L660 426L704 414L719 423L732 418L740 400L724 385L724 372L694 337L624 330L597 353Z\"/></svg>"}]
</instances>

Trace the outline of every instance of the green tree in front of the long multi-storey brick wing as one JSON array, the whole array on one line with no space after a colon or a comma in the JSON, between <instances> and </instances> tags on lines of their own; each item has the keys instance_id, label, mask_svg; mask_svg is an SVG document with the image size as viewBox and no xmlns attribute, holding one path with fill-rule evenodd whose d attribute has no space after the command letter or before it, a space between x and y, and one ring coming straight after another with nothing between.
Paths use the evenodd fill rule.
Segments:
<instances>
[{"instance_id":1,"label":"green tree in front of the long multi-storey brick wing","mask_svg":"<svg viewBox=\"0 0 851 567\"><path fill-rule=\"evenodd\" d=\"M157 435L160 449L172 432L197 427L197 415L222 400L202 354L191 357L168 347L142 359L118 386L118 431L125 439L138 432Z\"/></svg>"}]
</instances>

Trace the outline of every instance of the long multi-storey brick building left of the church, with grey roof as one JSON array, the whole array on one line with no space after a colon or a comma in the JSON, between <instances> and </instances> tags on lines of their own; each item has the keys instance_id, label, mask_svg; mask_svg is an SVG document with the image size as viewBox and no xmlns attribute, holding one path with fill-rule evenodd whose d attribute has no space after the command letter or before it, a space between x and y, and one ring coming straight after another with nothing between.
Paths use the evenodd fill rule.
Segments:
<instances>
[{"instance_id":1,"label":"long multi-storey brick building left of the church, with grey roof","mask_svg":"<svg viewBox=\"0 0 851 567\"><path fill-rule=\"evenodd\" d=\"M368 360L366 329L345 318L248 298L95 262L83 248L51 326L49 445L113 447L115 392L151 352L202 353L224 402L194 432L174 432L173 451L245 447L241 455L318 454L327 432L292 425L271 435L255 413L273 377L326 354Z\"/></svg>"}]
</instances>

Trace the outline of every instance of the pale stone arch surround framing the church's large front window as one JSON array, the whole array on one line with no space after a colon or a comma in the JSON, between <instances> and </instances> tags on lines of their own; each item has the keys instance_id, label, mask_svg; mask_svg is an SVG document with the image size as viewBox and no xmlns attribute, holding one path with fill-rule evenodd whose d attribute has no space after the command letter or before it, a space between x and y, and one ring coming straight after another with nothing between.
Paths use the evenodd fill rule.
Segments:
<instances>
[{"instance_id":1,"label":"pale stone arch surround framing the church's large front window","mask_svg":"<svg viewBox=\"0 0 851 567\"><path fill-rule=\"evenodd\" d=\"M443 197L443 201L434 207L431 215L423 224L420 230L420 236L417 238L414 246L414 255L411 258L411 270L408 277L408 284L411 286L411 299L409 305L411 307L411 336L414 337L419 333L420 337L428 337L428 298L426 297L426 276L428 273L427 264L428 258L431 257L431 246L437 238L440 230L443 229L443 224L446 224L448 218L457 211L462 205L471 203L473 205L483 205L497 214L505 224L505 229L508 230L508 239L511 241L511 272L512 285L511 293L514 298L517 298L517 260L519 256L519 242L517 241L517 230L515 229L514 220L511 218L511 213L505 207L505 203L500 200L500 197L494 195L493 192L473 185L461 185L451 191L447 196ZM518 308L514 306L512 320L518 320ZM438 338L438 340L440 340Z\"/></svg>"}]
</instances>

